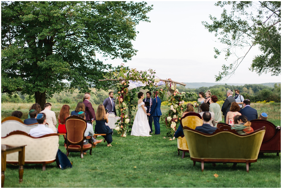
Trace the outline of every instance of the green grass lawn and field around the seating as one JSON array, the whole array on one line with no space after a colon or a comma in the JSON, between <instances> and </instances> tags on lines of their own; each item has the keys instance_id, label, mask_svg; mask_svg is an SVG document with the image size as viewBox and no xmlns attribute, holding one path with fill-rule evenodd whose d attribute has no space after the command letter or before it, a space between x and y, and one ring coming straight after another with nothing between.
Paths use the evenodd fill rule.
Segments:
<instances>
[{"instance_id":1,"label":"green grass lawn and field around the seating","mask_svg":"<svg viewBox=\"0 0 282 189\"><path fill-rule=\"evenodd\" d=\"M31 106L31 104L1 105L1 119L14 110L25 112L27 117L28 108ZM74 109L75 105L71 104L71 109ZM52 106L56 115L61 106L62 104ZM257 106L255 108L259 114L263 111L268 113L269 119L275 122L275 125L280 125L280 104L251 106ZM167 109L168 107L162 107L163 112ZM200 163L196 163L193 167L189 154L186 154L184 159L181 159L181 155L177 155L177 141L170 141L165 133L165 126L162 124L161 135L152 135L152 137L130 135L119 137L117 131L114 131L112 147L100 143L93 148L92 156L87 153L83 159L80 158L79 153L70 153L69 160L73 162L73 168L60 170L55 162L46 165L46 171L42 171L42 165L24 165L22 184L18 183L19 167L7 165L4 187L281 188L280 154L279 157L276 153L259 156L257 162L251 164L249 173L246 172L245 164L237 164L235 168L232 164L217 164L216 167L205 164L202 172ZM62 136L59 144L59 149L66 153ZM217 178L213 176L215 173L219 175Z\"/></svg>"}]
</instances>

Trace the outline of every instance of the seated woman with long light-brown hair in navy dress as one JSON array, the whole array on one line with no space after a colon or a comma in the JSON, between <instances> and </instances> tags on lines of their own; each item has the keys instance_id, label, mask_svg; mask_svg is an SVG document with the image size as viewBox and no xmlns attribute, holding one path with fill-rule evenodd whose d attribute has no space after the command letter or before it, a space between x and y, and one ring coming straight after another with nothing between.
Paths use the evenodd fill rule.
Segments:
<instances>
[{"instance_id":1,"label":"seated woman with long light-brown hair in navy dress","mask_svg":"<svg viewBox=\"0 0 282 189\"><path fill-rule=\"evenodd\" d=\"M100 104L97 108L97 112L95 115L96 125L95 125L95 133L96 134L107 134L103 136L104 139L107 141L107 146L112 146L110 143L113 142L112 133L113 131L107 126L105 123L108 123L108 115L106 113L105 107Z\"/></svg>"}]
</instances>

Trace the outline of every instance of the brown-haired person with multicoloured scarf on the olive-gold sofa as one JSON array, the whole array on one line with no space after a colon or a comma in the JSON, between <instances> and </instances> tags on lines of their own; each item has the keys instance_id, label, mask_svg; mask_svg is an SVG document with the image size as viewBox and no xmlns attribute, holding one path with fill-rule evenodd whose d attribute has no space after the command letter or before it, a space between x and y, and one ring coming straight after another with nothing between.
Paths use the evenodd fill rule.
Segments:
<instances>
[{"instance_id":1,"label":"brown-haired person with multicoloured scarf on the olive-gold sofa","mask_svg":"<svg viewBox=\"0 0 282 189\"><path fill-rule=\"evenodd\" d=\"M238 124L232 125L231 129L237 131L238 134L246 135L254 131L251 127L251 122L248 121L246 116L240 115L236 120Z\"/></svg>"}]
</instances>

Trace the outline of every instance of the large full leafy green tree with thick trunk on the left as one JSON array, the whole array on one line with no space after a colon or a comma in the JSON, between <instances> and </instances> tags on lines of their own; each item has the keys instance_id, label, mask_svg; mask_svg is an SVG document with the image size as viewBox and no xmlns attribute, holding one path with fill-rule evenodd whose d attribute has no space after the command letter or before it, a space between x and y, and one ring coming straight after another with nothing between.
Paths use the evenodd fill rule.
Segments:
<instances>
[{"instance_id":1,"label":"large full leafy green tree with thick trunk on the left","mask_svg":"<svg viewBox=\"0 0 282 189\"><path fill-rule=\"evenodd\" d=\"M111 65L96 54L130 60L135 26L150 10L145 2L2 1L1 92L35 95L42 107L60 91L101 88Z\"/></svg>"}]
</instances>

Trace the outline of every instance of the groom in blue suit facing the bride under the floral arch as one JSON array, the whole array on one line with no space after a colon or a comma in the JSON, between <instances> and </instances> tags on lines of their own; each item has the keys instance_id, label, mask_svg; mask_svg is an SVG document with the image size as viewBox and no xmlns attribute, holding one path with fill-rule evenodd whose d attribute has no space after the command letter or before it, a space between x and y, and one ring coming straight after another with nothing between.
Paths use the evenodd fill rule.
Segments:
<instances>
[{"instance_id":1,"label":"groom in blue suit facing the bride under the floral arch","mask_svg":"<svg viewBox=\"0 0 282 189\"><path fill-rule=\"evenodd\" d=\"M153 93L154 95L154 93ZM155 135L159 135L161 134L161 129L160 129L160 117L162 115L162 112L161 112L161 99L158 97L158 91L156 91L156 94L155 94L155 99L153 100L153 103L152 103L152 107L151 107L151 110L150 110L150 113L148 114L149 116L152 115L153 116L153 120L154 120L154 126L155 126Z\"/></svg>"}]
</instances>

